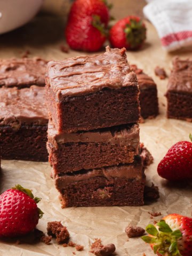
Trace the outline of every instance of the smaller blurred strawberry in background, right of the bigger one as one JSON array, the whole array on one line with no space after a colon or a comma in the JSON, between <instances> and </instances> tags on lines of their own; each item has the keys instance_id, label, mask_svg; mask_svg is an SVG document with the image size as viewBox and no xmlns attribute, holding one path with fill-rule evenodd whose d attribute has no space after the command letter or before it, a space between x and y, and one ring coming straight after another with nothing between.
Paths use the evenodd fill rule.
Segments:
<instances>
[{"instance_id":1,"label":"smaller blurred strawberry in background, right of the bigger one","mask_svg":"<svg viewBox=\"0 0 192 256\"><path fill-rule=\"evenodd\" d=\"M109 31L109 41L115 48L139 49L146 39L146 26L139 17L119 20Z\"/></svg>"}]
</instances>

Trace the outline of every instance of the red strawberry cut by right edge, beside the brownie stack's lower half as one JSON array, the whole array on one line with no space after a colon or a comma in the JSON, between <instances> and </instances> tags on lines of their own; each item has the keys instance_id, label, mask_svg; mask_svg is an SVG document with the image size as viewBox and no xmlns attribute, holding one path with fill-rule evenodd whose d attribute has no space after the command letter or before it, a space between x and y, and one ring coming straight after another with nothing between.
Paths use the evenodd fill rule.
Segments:
<instances>
[{"instance_id":1,"label":"red strawberry cut by right edge, beside the brownie stack's lower half","mask_svg":"<svg viewBox=\"0 0 192 256\"><path fill-rule=\"evenodd\" d=\"M192 141L192 135L189 135ZM167 180L192 179L192 143L179 141L166 153L157 167L158 174Z\"/></svg>"}]
</instances>

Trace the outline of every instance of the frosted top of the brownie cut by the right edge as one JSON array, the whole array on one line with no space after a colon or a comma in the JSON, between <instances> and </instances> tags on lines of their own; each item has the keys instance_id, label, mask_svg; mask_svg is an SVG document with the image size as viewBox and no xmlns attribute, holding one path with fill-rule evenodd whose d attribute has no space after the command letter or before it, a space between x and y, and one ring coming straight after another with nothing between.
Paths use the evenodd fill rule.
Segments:
<instances>
[{"instance_id":1,"label":"frosted top of the brownie cut by the right edge","mask_svg":"<svg viewBox=\"0 0 192 256\"><path fill-rule=\"evenodd\" d=\"M173 69L167 86L168 92L192 93L192 60L173 59Z\"/></svg>"}]
</instances>

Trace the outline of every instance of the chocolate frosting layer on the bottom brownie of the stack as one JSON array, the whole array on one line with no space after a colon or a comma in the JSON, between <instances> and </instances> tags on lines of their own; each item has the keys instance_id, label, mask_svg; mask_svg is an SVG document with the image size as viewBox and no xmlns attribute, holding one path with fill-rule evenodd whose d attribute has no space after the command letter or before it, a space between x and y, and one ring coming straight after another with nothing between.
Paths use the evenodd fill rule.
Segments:
<instances>
[{"instance_id":1,"label":"chocolate frosting layer on the bottom brownie of the stack","mask_svg":"<svg viewBox=\"0 0 192 256\"><path fill-rule=\"evenodd\" d=\"M138 162L133 164L121 164L109 167L103 167L93 170L81 170L73 173L63 173L58 175L52 170L52 177L55 180L55 185L58 189L63 189L71 183L87 180L95 177L103 177L107 180L111 178L121 179L137 179L142 180L145 178L142 161L138 156Z\"/></svg>"}]
</instances>

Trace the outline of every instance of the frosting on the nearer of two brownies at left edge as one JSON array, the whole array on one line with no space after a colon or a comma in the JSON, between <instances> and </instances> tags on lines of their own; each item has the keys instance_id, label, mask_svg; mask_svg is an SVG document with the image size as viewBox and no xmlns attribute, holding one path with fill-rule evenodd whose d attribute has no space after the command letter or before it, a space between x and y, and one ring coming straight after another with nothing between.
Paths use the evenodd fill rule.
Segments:
<instances>
[{"instance_id":1,"label":"frosting on the nearer of two brownies at left edge","mask_svg":"<svg viewBox=\"0 0 192 256\"><path fill-rule=\"evenodd\" d=\"M18 90L0 89L0 126L9 125L18 130L23 124L47 125L45 88L36 85Z\"/></svg>"}]
</instances>

